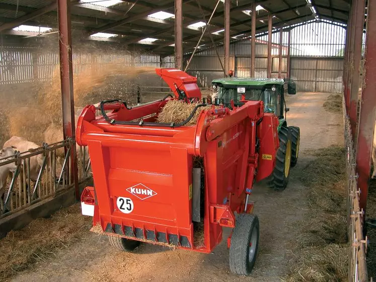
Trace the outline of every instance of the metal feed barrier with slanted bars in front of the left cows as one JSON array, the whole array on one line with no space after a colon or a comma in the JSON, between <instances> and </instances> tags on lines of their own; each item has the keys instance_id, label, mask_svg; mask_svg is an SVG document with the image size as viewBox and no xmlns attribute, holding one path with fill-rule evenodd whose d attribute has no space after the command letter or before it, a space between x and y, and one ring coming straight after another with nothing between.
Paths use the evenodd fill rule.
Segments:
<instances>
[{"instance_id":1,"label":"metal feed barrier with slanted bars in front of the left cows","mask_svg":"<svg viewBox=\"0 0 376 282\"><path fill-rule=\"evenodd\" d=\"M12 173L12 180L5 190L4 209L0 210L0 218L30 207L73 186L70 170L72 163L70 152L73 143L74 141L68 138L51 145L43 144L42 147L27 152L16 152L13 157L0 159L0 168L10 163L17 164L15 172ZM66 155L59 162L57 151L59 150L61 155L61 150L65 148ZM77 153L79 181L82 182L91 178L90 158L83 147L80 147ZM43 156L43 163L38 170L37 178L32 179L30 159L38 155Z\"/></svg>"}]
</instances>

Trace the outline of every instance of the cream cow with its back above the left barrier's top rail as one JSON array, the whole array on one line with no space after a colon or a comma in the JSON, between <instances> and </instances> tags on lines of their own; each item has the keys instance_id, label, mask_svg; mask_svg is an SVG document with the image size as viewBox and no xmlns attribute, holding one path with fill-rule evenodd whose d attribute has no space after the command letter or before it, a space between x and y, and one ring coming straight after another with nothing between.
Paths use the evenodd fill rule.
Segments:
<instances>
[{"instance_id":1,"label":"cream cow with its back above the left barrier's top rail","mask_svg":"<svg viewBox=\"0 0 376 282\"><path fill-rule=\"evenodd\" d=\"M13 147L16 151L26 152L30 150L35 150L40 146L36 145L34 142L31 142L23 137L12 136L6 143L4 147ZM40 168L43 164L43 155L39 154L33 157L30 157L30 180L37 181Z\"/></svg>"}]
</instances>

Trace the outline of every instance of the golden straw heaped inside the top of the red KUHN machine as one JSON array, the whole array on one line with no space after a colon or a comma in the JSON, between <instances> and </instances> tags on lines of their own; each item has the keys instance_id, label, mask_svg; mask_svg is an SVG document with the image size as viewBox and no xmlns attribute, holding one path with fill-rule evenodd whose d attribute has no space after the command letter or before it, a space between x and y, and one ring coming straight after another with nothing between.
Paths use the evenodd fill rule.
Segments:
<instances>
[{"instance_id":1,"label":"golden straw heaped inside the top of the red KUHN machine","mask_svg":"<svg viewBox=\"0 0 376 282\"><path fill-rule=\"evenodd\" d=\"M184 101L171 100L168 101L165 107L162 109L161 113L158 115L158 122L161 123L180 123L186 120L194 108L200 104L197 103L185 103ZM202 110L208 110L211 106L200 107L195 112L192 119L186 125L194 125L197 123L197 119Z\"/></svg>"}]
</instances>

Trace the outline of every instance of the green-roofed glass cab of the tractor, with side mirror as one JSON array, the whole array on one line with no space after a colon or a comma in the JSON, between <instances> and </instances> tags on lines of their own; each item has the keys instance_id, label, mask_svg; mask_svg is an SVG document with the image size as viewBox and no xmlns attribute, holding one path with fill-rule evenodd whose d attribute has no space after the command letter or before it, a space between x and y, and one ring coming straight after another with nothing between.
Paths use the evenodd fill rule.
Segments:
<instances>
[{"instance_id":1,"label":"green-roofed glass cab of the tractor, with side mirror","mask_svg":"<svg viewBox=\"0 0 376 282\"><path fill-rule=\"evenodd\" d=\"M263 101L266 113L283 117L284 80L259 78L223 78L212 81L213 98L224 104L242 101ZM295 94L293 82L288 83L288 94Z\"/></svg>"}]
</instances>

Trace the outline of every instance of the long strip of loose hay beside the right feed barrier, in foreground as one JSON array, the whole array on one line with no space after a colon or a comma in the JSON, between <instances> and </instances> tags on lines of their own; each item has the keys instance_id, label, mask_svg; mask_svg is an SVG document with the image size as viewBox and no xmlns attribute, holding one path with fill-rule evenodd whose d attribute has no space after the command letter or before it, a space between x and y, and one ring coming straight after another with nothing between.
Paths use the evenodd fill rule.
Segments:
<instances>
[{"instance_id":1,"label":"long strip of loose hay beside the right feed barrier, in foreground","mask_svg":"<svg viewBox=\"0 0 376 282\"><path fill-rule=\"evenodd\" d=\"M303 233L293 248L294 263L287 281L342 281L347 277L345 150L328 147L313 152L298 172L310 188L310 210L301 223Z\"/></svg>"}]
</instances>

